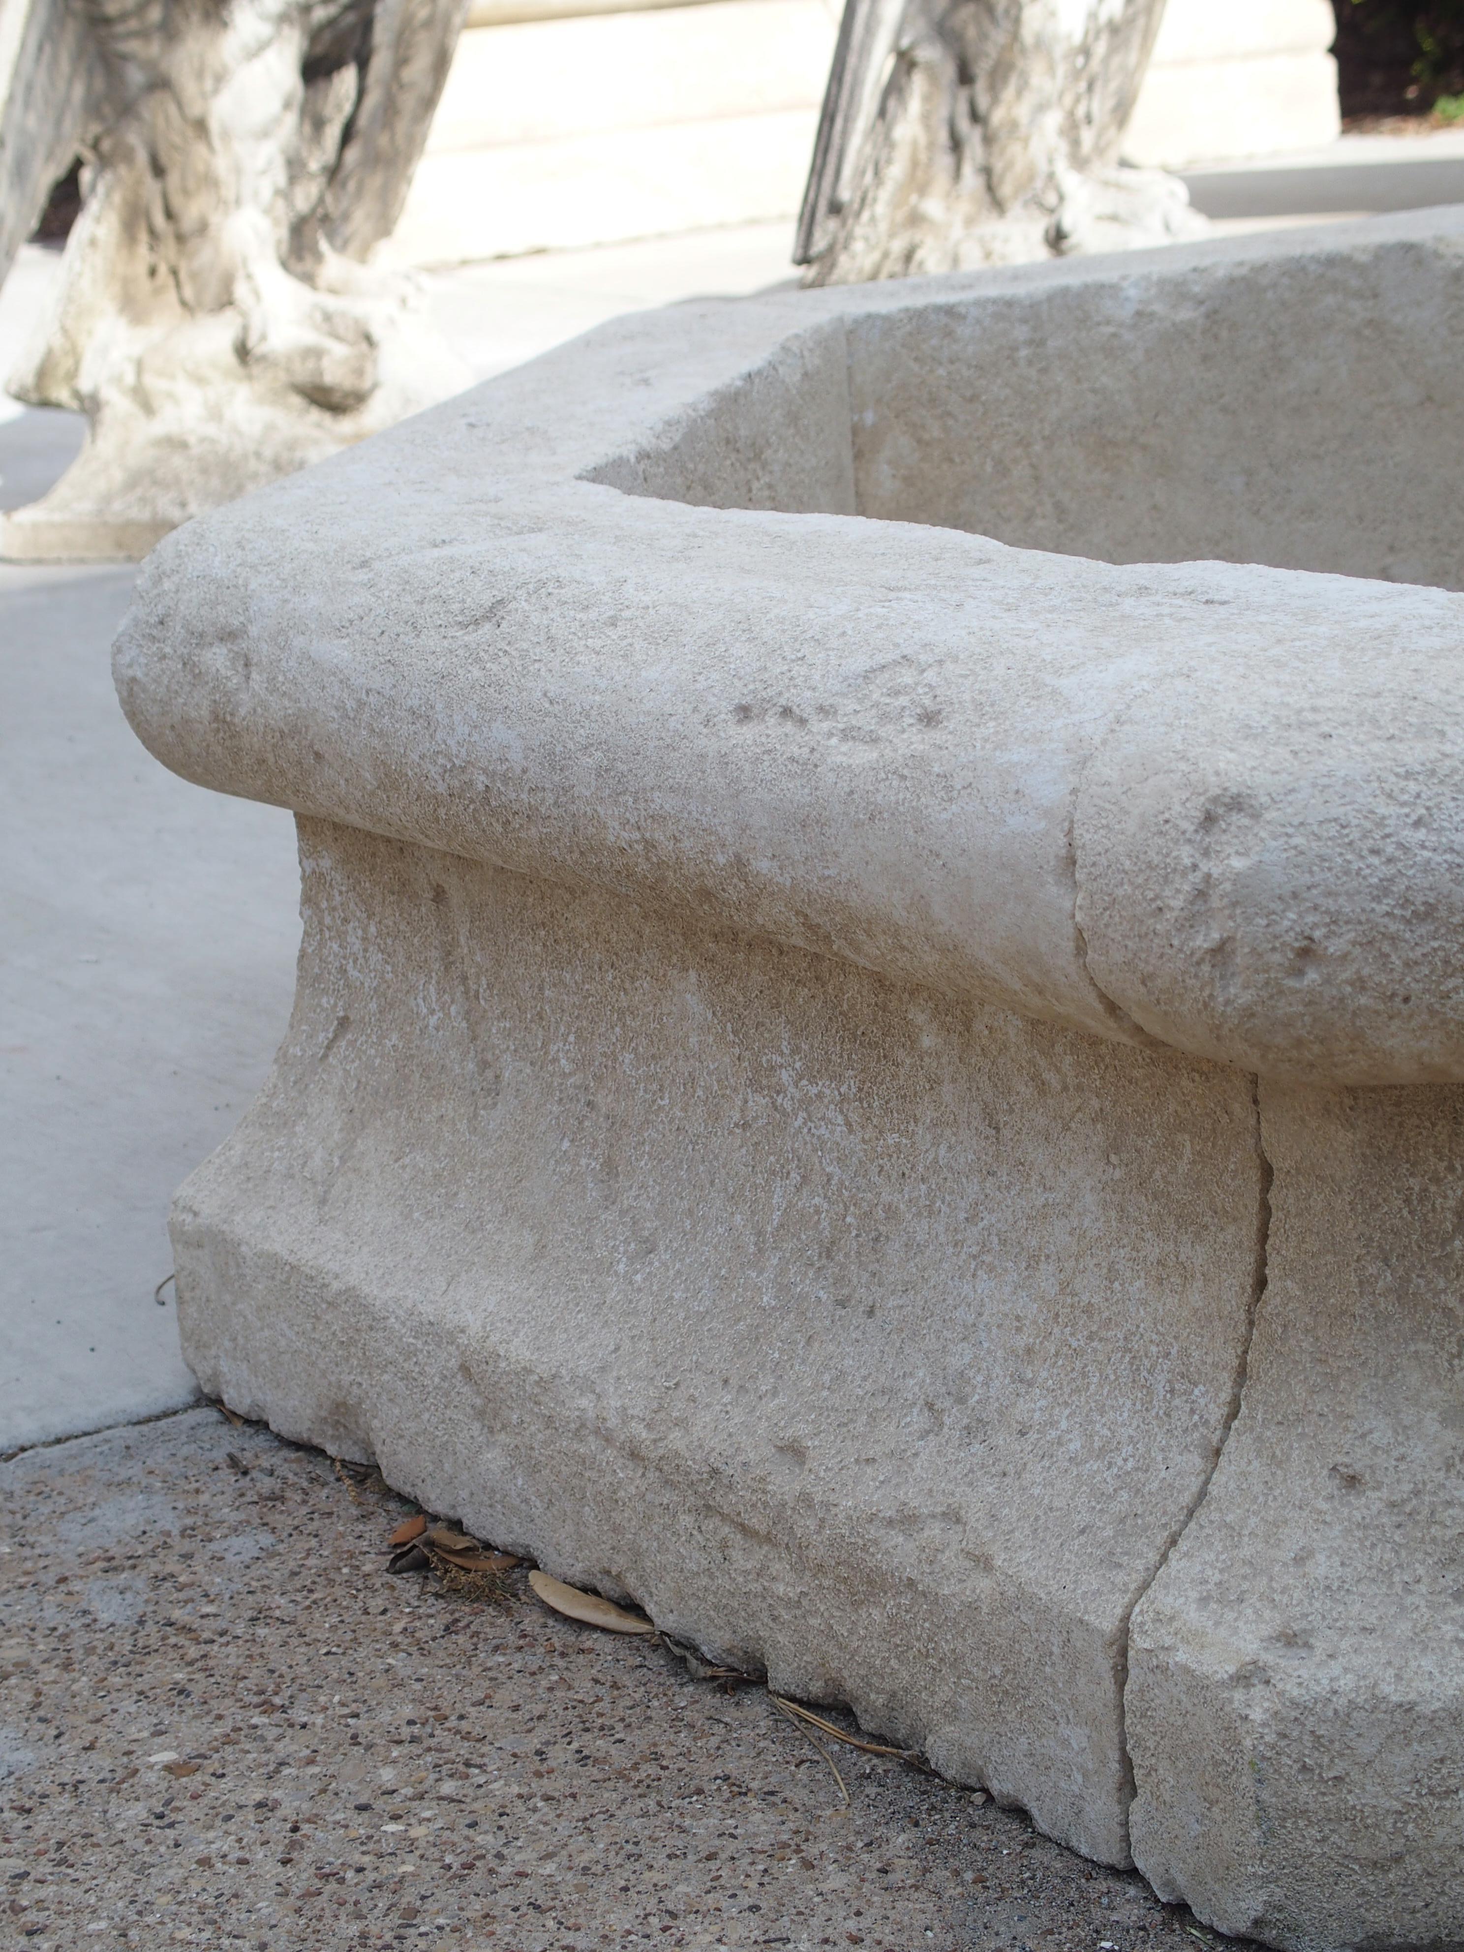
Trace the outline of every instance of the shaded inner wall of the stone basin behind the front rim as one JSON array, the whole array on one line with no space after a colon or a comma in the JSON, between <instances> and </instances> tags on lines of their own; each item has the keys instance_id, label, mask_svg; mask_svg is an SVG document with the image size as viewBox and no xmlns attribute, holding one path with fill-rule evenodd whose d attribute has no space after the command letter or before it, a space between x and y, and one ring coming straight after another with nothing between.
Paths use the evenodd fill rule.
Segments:
<instances>
[{"instance_id":1,"label":"shaded inner wall of the stone basin behind the front rim","mask_svg":"<svg viewBox=\"0 0 1464 1952\"><path fill-rule=\"evenodd\" d=\"M810 330L590 478L1460 590L1462 310L1458 240L921 303Z\"/></svg>"}]
</instances>

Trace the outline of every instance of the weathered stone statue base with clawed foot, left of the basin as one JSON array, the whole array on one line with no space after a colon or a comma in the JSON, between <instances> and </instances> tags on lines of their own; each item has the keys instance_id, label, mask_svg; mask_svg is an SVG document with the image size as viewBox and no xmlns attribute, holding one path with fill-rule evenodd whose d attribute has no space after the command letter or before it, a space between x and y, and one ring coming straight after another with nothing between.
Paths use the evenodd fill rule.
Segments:
<instances>
[{"instance_id":1,"label":"weathered stone statue base with clawed foot, left of the basin","mask_svg":"<svg viewBox=\"0 0 1464 1952\"><path fill-rule=\"evenodd\" d=\"M4 552L131 558L467 385L402 207L465 0L0 0L0 277L82 156L61 289L10 390L90 439Z\"/></svg>"}]
</instances>

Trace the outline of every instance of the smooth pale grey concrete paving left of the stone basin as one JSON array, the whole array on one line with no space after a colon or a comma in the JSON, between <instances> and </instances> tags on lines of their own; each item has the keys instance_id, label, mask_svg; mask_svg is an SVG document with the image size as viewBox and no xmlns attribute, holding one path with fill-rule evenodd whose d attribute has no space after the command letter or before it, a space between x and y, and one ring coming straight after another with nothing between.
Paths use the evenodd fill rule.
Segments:
<instances>
[{"instance_id":1,"label":"smooth pale grey concrete paving left of the stone basin","mask_svg":"<svg viewBox=\"0 0 1464 1952\"><path fill-rule=\"evenodd\" d=\"M0 1450L197 1394L154 1300L168 1202L289 1017L291 818L137 744L131 580L0 566Z\"/></svg>"}]
</instances>

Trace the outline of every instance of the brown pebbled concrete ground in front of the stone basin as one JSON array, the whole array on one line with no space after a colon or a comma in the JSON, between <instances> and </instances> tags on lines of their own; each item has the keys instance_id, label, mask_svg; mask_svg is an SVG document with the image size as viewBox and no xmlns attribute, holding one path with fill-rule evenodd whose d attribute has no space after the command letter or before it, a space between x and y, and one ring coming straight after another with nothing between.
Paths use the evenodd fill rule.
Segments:
<instances>
[{"instance_id":1,"label":"brown pebbled concrete ground in front of the stone basin","mask_svg":"<svg viewBox=\"0 0 1464 1952\"><path fill-rule=\"evenodd\" d=\"M388 1577L410 1507L215 1409L31 1450L0 1491L6 1944L1216 1942L898 1761L835 1749L845 1808L761 1688L560 1620L523 1571L504 1606Z\"/></svg>"}]
</instances>

